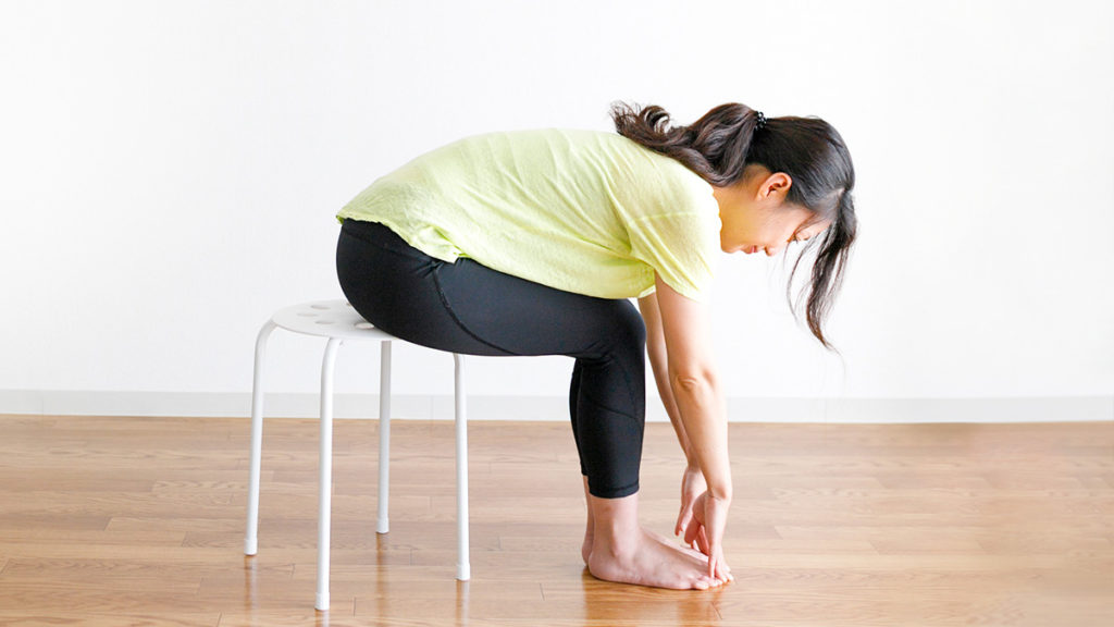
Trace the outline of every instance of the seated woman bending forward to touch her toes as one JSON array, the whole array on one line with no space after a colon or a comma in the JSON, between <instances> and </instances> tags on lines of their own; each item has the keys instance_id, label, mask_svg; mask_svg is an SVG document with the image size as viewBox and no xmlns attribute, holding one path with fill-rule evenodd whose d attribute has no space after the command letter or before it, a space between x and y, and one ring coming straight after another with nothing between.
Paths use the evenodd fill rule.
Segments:
<instances>
[{"instance_id":1,"label":"seated woman bending forward to touch her toes","mask_svg":"<svg viewBox=\"0 0 1114 627\"><path fill-rule=\"evenodd\" d=\"M821 322L854 241L854 171L818 118L766 119L741 104L690 126L671 126L656 106L619 104L612 116L618 134L480 135L379 179L338 214L338 276L356 311L404 340L576 358L569 411L589 571L706 589L732 579L727 423L707 311L714 259L808 241L805 316L830 348ZM638 525L647 351L688 462L674 531L698 552Z\"/></svg>"}]
</instances>

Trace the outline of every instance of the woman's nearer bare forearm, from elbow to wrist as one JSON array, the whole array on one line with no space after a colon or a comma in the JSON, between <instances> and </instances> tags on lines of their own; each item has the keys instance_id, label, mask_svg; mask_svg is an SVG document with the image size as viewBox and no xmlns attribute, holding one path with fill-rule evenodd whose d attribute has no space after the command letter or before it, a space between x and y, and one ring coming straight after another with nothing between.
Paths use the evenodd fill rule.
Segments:
<instances>
[{"instance_id":1,"label":"woman's nearer bare forearm, from elbow to wrist","mask_svg":"<svg viewBox=\"0 0 1114 627\"><path fill-rule=\"evenodd\" d=\"M685 454L690 464L700 466L713 496L730 501L733 490L727 454L726 404L720 386L711 376L674 373L670 375L670 384L680 418L678 433L683 431L687 441Z\"/></svg>"}]
</instances>

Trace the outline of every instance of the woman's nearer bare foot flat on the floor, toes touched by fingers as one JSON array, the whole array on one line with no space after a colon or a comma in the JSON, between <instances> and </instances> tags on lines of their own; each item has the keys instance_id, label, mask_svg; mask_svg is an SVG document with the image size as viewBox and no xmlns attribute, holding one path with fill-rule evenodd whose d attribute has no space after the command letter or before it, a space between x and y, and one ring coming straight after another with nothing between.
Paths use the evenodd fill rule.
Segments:
<instances>
[{"instance_id":1,"label":"woman's nearer bare foot flat on the floor, toes touched by fingers","mask_svg":"<svg viewBox=\"0 0 1114 627\"><path fill-rule=\"evenodd\" d=\"M722 583L709 577L707 558L641 528L614 543L596 538L588 571L606 581L675 590L706 590Z\"/></svg>"}]
</instances>

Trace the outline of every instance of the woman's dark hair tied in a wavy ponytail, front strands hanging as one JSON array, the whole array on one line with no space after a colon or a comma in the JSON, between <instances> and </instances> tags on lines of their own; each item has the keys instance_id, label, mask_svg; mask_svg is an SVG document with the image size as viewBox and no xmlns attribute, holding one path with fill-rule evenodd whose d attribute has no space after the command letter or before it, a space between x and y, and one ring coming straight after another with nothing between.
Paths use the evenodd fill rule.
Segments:
<instances>
[{"instance_id":1,"label":"woman's dark hair tied in a wavy ponytail, front strands hanging","mask_svg":"<svg viewBox=\"0 0 1114 627\"><path fill-rule=\"evenodd\" d=\"M818 117L771 117L760 128L758 112L739 103L720 105L688 126L671 126L670 114L662 107L625 103L612 106L612 119L619 135L677 160L717 187L740 181L750 164L789 174L793 184L786 202L811 211L814 218L810 222L830 220L831 225L809 240L798 257L786 298L794 315L804 300L809 329L832 349L821 325L842 284L858 229L851 197L854 166L840 134ZM794 302L793 277L811 250L817 255L809 289L802 289Z\"/></svg>"}]
</instances>

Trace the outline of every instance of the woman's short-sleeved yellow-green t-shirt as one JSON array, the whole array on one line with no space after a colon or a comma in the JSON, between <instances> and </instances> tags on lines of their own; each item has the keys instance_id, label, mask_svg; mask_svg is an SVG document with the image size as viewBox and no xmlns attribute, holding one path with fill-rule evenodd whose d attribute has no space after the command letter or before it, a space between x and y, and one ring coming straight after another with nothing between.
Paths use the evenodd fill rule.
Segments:
<instances>
[{"instance_id":1,"label":"woman's short-sleeved yellow-green t-shirt","mask_svg":"<svg viewBox=\"0 0 1114 627\"><path fill-rule=\"evenodd\" d=\"M430 257L600 298L643 297L654 273L705 300L720 251L712 186L613 133L468 137L377 180L336 215L379 222Z\"/></svg>"}]
</instances>

